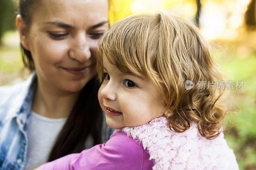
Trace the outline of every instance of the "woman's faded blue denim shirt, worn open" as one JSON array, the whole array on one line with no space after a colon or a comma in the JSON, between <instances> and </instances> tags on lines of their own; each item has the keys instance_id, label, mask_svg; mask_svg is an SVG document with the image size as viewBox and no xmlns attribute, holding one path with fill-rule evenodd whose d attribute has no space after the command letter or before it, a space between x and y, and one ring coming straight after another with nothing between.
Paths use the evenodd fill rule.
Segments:
<instances>
[{"instance_id":1,"label":"woman's faded blue denim shirt, worn open","mask_svg":"<svg viewBox=\"0 0 256 170\"><path fill-rule=\"evenodd\" d=\"M36 73L33 73L22 83L0 87L1 170L25 167L28 148L27 133L36 85ZM112 133L113 129L105 126L102 139L108 140Z\"/></svg>"}]
</instances>

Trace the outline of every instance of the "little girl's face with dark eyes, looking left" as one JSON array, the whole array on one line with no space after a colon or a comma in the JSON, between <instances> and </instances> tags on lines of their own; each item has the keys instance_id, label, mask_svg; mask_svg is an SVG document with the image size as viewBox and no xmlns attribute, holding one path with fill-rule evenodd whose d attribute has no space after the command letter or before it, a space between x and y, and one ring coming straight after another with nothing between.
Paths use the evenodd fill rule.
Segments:
<instances>
[{"instance_id":1,"label":"little girl's face with dark eyes, looking left","mask_svg":"<svg viewBox=\"0 0 256 170\"><path fill-rule=\"evenodd\" d=\"M164 97L150 80L122 73L105 56L103 67L98 99L109 127L140 126L164 115Z\"/></svg>"}]
</instances>

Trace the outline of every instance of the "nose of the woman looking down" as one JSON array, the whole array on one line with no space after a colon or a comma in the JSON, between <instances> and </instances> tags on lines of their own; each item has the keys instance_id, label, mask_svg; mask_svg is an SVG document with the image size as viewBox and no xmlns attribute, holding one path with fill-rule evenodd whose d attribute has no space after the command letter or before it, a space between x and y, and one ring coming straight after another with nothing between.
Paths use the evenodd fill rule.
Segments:
<instances>
[{"instance_id":1,"label":"nose of the woman looking down","mask_svg":"<svg viewBox=\"0 0 256 170\"><path fill-rule=\"evenodd\" d=\"M68 55L80 63L86 62L91 57L90 45L86 41L85 34L80 34L75 38Z\"/></svg>"}]
</instances>

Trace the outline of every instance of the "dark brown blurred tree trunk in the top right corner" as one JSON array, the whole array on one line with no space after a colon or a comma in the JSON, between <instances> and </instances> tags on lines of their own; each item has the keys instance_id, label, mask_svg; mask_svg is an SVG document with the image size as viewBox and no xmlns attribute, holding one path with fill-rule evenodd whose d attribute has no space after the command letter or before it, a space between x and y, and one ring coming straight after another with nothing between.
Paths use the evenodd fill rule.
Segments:
<instances>
[{"instance_id":1,"label":"dark brown blurred tree trunk in the top right corner","mask_svg":"<svg viewBox=\"0 0 256 170\"><path fill-rule=\"evenodd\" d=\"M252 28L252 26L254 26L254 29L256 28L255 3L256 0L251 0L251 2L248 4L247 11L245 12L244 20L247 28Z\"/></svg>"}]
</instances>

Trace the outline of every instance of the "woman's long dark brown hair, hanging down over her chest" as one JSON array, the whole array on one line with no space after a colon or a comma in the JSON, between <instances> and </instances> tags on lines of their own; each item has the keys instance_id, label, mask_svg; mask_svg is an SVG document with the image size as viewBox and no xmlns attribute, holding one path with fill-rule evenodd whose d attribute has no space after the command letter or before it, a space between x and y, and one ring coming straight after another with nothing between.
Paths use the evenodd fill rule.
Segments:
<instances>
[{"instance_id":1,"label":"woman's long dark brown hair, hanging down over her chest","mask_svg":"<svg viewBox=\"0 0 256 170\"><path fill-rule=\"evenodd\" d=\"M108 0L109 1L109 0ZM31 20L31 9L36 4L35 0L20 0L19 14L24 24L29 27ZM110 2L109 2L110 4ZM35 70L30 51L20 44L22 60L30 71ZM49 154L47 161L58 159L70 153L81 152L85 149L85 141L89 135L92 136L93 144L100 144L102 136L103 115L97 98L99 81L95 75L82 89L68 120L61 129L55 144Z\"/></svg>"}]
</instances>

